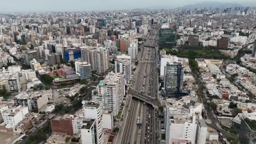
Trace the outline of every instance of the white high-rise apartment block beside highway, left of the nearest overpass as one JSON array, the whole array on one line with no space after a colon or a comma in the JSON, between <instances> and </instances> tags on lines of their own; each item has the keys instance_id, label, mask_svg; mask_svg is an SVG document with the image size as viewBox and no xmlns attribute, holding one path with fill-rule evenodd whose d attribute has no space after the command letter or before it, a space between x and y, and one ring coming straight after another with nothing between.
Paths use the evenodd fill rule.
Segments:
<instances>
[{"instance_id":1,"label":"white high-rise apartment block beside highway, left of the nearest overpass","mask_svg":"<svg viewBox=\"0 0 256 144\"><path fill-rule=\"evenodd\" d=\"M92 100L99 101L103 110L112 111L117 116L125 94L123 75L120 73L108 73L104 80L92 91Z\"/></svg>"}]
</instances>

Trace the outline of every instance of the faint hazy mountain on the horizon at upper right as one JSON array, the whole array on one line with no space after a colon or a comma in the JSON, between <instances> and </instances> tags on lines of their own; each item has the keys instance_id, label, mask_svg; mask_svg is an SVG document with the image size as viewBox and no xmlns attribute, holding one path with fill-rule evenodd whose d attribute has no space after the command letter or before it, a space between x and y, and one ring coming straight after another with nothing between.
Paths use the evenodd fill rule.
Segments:
<instances>
[{"instance_id":1,"label":"faint hazy mountain on the horizon at upper right","mask_svg":"<svg viewBox=\"0 0 256 144\"><path fill-rule=\"evenodd\" d=\"M222 2L200 2L200 3L195 3L195 4L189 4L185 5L184 7L179 7L177 9L196 9L196 8L231 8L231 7L244 7L241 4L237 3L222 3Z\"/></svg>"}]
</instances>

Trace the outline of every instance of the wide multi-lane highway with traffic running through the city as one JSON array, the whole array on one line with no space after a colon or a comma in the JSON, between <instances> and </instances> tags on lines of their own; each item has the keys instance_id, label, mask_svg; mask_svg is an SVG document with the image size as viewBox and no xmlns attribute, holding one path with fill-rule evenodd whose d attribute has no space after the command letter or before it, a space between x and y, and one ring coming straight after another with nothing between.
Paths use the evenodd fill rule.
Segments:
<instances>
[{"instance_id":1,"label":"wide multi-lane highway with traffic running through the city","mask_svg":"<svg viewBox=\"0 0 256 144\"><path fill-rule=\"evenodd\" d=\"M133 93L129 93L128 111L124 113L123 128L119 141L115 143L161 143L161 129L157 106L153 107L135 97L158 98L158 29L153 28L141 52L138 65L131 81ZM126 105L127 106L127 105Z\"/></svg>"}]
</instances>

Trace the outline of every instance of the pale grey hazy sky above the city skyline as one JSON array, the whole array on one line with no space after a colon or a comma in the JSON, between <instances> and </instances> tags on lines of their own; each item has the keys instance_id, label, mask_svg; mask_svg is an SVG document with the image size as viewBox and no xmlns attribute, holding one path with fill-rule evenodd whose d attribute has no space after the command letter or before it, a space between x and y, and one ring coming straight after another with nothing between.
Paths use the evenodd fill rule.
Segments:
<instances>
[{"instance_id":1,"label":"pale grey hazy sky above the city skyline","mask_svg":"<svg viewBox=\"0 0 256 144\"><path fill-rule=\"evenodd\" d=\"M211 0L0 0L1 12L176 8ZM256 6L256 0L214 0Z\"/></svg>"}]
</instances>

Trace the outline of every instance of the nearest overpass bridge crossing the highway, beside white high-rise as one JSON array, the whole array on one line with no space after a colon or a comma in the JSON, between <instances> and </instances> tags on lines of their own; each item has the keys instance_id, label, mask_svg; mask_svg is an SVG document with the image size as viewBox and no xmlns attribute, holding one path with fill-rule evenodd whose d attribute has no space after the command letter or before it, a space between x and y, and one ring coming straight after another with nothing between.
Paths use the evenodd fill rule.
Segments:
<instances>
[{"instance_id":1,"label":"nearest overpass bridge crossing the highway, beside white high-rise","mask_svg":"<svg viewBox=\"0 0 256 144\"><path fill-rule=\"evenodd\" d=\"M138 92L134 91L132 88L129 89L129 94L131 95L131 97L142 100L145 103L150 104L154 107L155 98L149 97L146 94L138 93Z\"/></svg>"}]
</instances>

